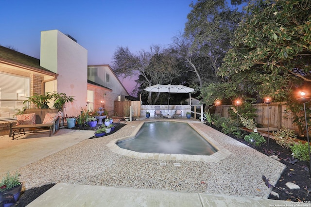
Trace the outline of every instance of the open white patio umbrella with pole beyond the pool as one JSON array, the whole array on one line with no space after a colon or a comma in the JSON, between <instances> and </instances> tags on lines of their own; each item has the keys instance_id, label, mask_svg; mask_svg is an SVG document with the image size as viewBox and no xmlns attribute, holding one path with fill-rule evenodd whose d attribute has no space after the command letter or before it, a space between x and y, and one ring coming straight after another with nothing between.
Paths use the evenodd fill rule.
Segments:
<instances>
[{"instance_id":1,"label":"open white patio umbrella with pole beyond the pool","mask_svg":"<svg viewBox=\"0 0 311 207\"><path fill-rule=\"evenodd\" d=\"M156 84L149 86L144 89L145 91L148 92L159 92L159 93L169 93L169 112L170 112L170 93L191 93L194 92L193 88L184 86L184 85L161 85L161 84ZM191 101L191 98L190 98Z\"/></svg>"}]
</instances>

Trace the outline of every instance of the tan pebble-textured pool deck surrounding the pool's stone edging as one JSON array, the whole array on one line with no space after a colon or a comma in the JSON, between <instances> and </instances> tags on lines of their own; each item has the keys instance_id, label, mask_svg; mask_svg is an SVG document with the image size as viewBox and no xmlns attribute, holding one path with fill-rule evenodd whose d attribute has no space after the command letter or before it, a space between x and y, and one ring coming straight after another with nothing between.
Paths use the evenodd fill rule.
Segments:
<instances>
[{"instance_id":1,"label":"tan pebble-textured pool deck surrounding the pool's stone edging","mask_svg":"<svg viewBox=\"0 0 311 207\"><path fill-rule=\"evenodd\" d=\"M161 189L268 198L262 175L275 185L285 165L200 122L193 124L232 154L219 162L145 160L110 151L111 140L129 136L139 121L115 133L84 140L35 163L19 168L26 189L46 184L72 184ZM174 163L180 166L174 166Z\"/></svg>"}]
</instances>

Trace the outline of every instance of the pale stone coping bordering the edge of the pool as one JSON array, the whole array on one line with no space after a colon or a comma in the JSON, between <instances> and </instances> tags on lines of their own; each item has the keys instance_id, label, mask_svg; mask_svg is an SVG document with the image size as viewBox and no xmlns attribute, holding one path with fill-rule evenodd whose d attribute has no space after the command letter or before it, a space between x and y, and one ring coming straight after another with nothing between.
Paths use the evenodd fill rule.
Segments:
<instances>
[{"instance_id":1,"label":"pale stone coping bordering the edge of the pool","mask_svg":"<svg viewBox=\"0 0 311 207\"><path fill-rule=\"evenodd\" d=\"M215 140L213 140L212 137L208 136L202 130L195 127L192 124L194 121L188 121L188 120L187 121L184 121L184 120L165 120L165 121L187 123L197 133L199 133L204 139L206 139L215 149L217 149L218 150L217 152L213 153L212 155L183 155L183 154L164 154L164 153L143 153L143 152L136 152L136 151L132 151L132 150L128 150L128 149L123 149L117 145L117 143L119 141L134 138L144 123L157 122L157 121L163 121L163 120L142 121L137 126L132 126L133 128L135 127L135 129L133 129L131 135L121 137L118 139L114 139L111 142L109 142L108 144L106 144L106 146L114 153L117 153L117 154L123 155L123 156L127 156L130 158L136 158L136 159L219 162L220 160L225 159L226 157L231 155L231 152L229 150L227 150L221 144L217 143ZM195 121L195 123L198 123L198 122Z\"/></svg>"}]
</instances>

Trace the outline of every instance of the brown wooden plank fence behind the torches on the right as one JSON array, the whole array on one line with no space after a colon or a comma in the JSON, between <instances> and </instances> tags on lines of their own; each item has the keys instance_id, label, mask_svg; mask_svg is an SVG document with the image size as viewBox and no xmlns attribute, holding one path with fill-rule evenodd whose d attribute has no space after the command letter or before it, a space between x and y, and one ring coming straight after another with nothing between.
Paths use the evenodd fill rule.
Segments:
<instances>
[{"instance_id":1,"label":"brown wooden plank fence behind the torches on the right","mask_svg":"<svg viewBox=\"0 0 311 207\"><path fill-rule=\"evenodd\" d=\"M217 106L215 109L215 114L221 117L229 117L230 114L228 110L233 105L224 105L224 106ZM257 111L255 112L258 117L255 121L262 126L268 126L268 117L269 117L269 127L274 127L280 129L281 127L287 127L291 130L299 131L296 124L293 124L294 116L289 113L285 114L286 110L286 103L285 102L272 102L271 104L267 105L264 103L261 104L253 104ZM268 109L269 109L269 116L268 116ZM284 116L287 116L286 118Z\"/></svg>"}]
</instances>

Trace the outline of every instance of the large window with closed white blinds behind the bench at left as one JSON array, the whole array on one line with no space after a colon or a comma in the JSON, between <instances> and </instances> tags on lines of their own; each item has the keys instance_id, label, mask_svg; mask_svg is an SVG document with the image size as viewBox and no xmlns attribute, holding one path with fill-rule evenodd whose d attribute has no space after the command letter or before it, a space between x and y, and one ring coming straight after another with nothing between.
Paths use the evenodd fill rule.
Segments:
<instances>
[{"instance_id":1,"label":"large window with closed white blinds behind the bench at left","mask_svg":"<svg viewBox=\"0 0 311 207\"><path fill-rule=\"evenodd\" d=\"M27 107L23 101L30 96L30 78L0 72L0 120L11 119Z\"/></svg>"}]
</instances>

